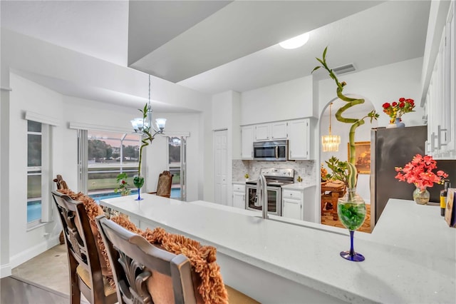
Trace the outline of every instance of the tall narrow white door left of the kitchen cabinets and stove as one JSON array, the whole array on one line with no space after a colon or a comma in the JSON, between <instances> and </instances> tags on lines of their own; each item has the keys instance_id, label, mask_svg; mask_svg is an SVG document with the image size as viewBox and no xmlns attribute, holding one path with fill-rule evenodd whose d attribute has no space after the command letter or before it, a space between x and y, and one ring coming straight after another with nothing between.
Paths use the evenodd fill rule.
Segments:
<instances>
[{"instance_id":1,"label":"tall narrow white door left of the kitchen cabinets and stove","mask_svg":"<svg viewBox=\"0 0 456 304\"><path fill-rule=\"evenodd\" d=\"M227 130L214 131L214 201L227 205Z\"/></svg>"}]
</instances>

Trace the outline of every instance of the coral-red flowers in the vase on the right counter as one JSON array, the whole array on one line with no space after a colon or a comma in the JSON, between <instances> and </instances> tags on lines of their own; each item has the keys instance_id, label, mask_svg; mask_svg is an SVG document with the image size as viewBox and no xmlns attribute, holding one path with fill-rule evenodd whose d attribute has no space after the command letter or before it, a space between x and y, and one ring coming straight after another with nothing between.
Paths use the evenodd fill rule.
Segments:
<instances>
[{"instance_id":1,"label":"coral-red flowers in the vase on the right counter","mask_svg":"<svg viewBox=\"0 0 456 304\"><path fill-rule=\"evenodd\" d=\"M426 187L434 186L434 183L443 183L443 179L448 177L448 174L442 170L437 173L432 172L435 168L437 168L437 162L432 156L417 154L404 168L395 167L395 171L398 172L395 178L398 178L399 181L414 183L417 188L424 191Z\"/></svg>"}]
</instances>

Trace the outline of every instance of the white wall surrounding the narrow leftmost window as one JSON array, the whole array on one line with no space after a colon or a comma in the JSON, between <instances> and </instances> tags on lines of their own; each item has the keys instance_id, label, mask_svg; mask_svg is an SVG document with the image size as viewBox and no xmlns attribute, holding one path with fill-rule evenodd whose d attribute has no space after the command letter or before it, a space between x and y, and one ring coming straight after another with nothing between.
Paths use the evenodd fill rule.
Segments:
<instances>
[{"instance_id":1,"label":"white wall surrounding the narrow leftmost window","mask_svg":"<svg viewBox=\"0 0 456 304\"><path fill-rule=\"evenodd\" d=\"M27 121L25 111L38 113L42 116L59 118L62 111L62 96L54 91L39 86L25 78L11 74L11 108L9 155L11 168L9 179L9 256L11 268L23 263L58 243L61 224L51 221L33 230L27 226ZM53 137L61 138L62 126L52 127ZM58 140L57 140L58 141ZM5 143L2 143L2 146ZM61 154L61 148L53 148L53 154ZM59 158L53 158L54 171L61 170L63 164ZM53 173L51 173L53 174ZM7 203L2 201L2 203ZM52 203L52 202L50 202ZM51 205L52 206L52 205ZM54 213L55 214L55 213ZM45 233L50 233L45 236ZM20 241L16 241L20 240ZM2 244L3 245L3 244Z\"/></svg>"}]
</instances>

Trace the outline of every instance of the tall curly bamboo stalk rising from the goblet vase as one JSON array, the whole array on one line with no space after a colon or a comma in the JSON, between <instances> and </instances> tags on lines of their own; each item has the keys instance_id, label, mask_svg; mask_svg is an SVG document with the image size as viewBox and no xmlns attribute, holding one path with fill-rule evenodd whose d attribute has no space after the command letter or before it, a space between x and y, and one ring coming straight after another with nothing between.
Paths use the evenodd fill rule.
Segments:
<instances>
[{"instance_id":1,"label":"tall curly bamboo stalk rising from the goblet vase","mask_svg":"<svg viewBox=\"0 0 456 304\"><path fill-rule=\"evenodd\" d=\"M333 78L334 81L336 81L336 93L338 98L340 98L342 101L346 101L346 105L342 106L341 108L338 109L336 112L336 119L338 121L341 121L342 123L351 123L350 127L350 133L348 134L348 141L350 143L350 159L348 160L346 168L348 169L348 174L346 181L346 186L348 188L355 188L356 187L356 166L355 166L355 160L356 160L356 151L355 151L355 131L358 126L362 126L364 124L364 119L366 118L371 118L371 123L373 119L377 119L379 114L375 112L375 110L369 112L366 116L363 118L346 118L342 116L343 111L346 111L348 108L351 108L352 106L356 106L358 104L364 103L363 98L350 98L345 95L343 95L343 87L346 86L346 82L339 82L336 74L334 74L333 70L328 67L328 64L326 64L326 51L328 51L328 46L323 51L323 57L322 59L316 58L316 60L321 64L321 66L316 66L314 70L312 70L312 73L314 71L320 69L323 67L326 69L326 71L329 72L329 76ZM334 172L334 171L333 171ZM338 177L335 176L337 179Z\"/></svg>"}]
</instances>

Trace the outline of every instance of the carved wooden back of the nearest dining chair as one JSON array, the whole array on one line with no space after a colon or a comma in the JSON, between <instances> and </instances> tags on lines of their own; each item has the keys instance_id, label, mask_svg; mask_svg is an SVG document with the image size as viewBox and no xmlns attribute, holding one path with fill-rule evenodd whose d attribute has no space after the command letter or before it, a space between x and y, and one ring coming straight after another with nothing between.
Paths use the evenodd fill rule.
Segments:
<instances>
[{"instance_id":1,"label":"carved wooden back of the nearest dining chair","mask_svg":"<svg viewBox=\"0 0 456 304\"><path fill-rule=\"evenodd\" d=\"M197 303L190 260L147 242L105 216L96 218L119 303ZM156 280L150 285L150 279Z\"/></svg>"}]
</instances>

